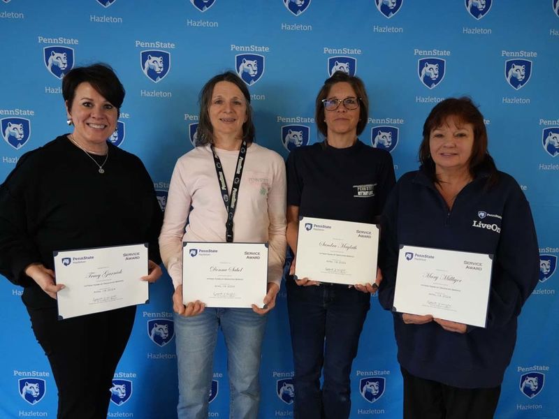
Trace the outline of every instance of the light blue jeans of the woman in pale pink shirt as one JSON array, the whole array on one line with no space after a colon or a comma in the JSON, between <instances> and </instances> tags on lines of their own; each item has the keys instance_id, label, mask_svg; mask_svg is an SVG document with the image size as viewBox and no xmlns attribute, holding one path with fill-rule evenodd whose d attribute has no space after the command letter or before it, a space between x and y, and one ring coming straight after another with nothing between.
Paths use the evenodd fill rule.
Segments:
<instances>
[{"instance_id":1,"label":"light blue jeans of the woman in pale pink shirt","mask_svg":"<svg viewBox=\"0 0 559 419\"><path fill-rule=\"evenodd\" d=\"M206 307L202 314L175 314L179 374L179 419L207 419L212 364L221 326L227 346L227 372L231 388L229 417L258 416L260 354L267 316L252 309Z\"/></svg>"}]
</instances>

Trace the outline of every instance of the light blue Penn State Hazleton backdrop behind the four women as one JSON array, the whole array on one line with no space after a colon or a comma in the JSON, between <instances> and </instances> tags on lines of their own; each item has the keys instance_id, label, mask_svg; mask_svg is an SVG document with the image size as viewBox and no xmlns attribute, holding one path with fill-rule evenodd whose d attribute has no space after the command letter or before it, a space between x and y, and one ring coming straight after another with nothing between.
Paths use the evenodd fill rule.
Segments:
<instances>
[{"instance_id":1,"label":"light blue Penn State Hazleton backdrop behind the four women","mask_svg":"<svg viewBox=\"0 0 559 419\"><path fill-rule=\"evenodd\" d=\"M285 1L0 0L0 179L24 152L68 131L59 78L72 65L105 61L117 71L127 93L113 140L144 161L161 204L177 157L192 148L198 91L226 69L242 64L246 70L257 141L283 156L290 147L319 140L313 103L328 72L356 71L372 103L361 140L378 136L378 147L391 150L398 176L418 166L421 128L433 105L448 96L472 96L486 117L498 167L530 200L543 265L520 318L497 417L559 418L558 0L471 0L471 7L468 0ZM284 145L286 138L291 142ZM175 417L173 334L150 339L154 323L173 331L171 292L165 275L151 286L151 303L138 307L115 376L126 396L113 399L110 417ZM55 382L20 294L0 282L0 417L54 418ZM263 348L261 418L292 416L289 394L281 392L282 399L278 391L292 369L282 291ZM21 385L40 384L37 397L21 396L22 378ZM361 396L363 378L379 383L375 397ZM521 390L526 378L537 378L537 386ZM222 341L215 381L210 417L226 418ZM351 418L401 417L391 315L376 301L351 381Z\"/></svg>"}]
</instances>

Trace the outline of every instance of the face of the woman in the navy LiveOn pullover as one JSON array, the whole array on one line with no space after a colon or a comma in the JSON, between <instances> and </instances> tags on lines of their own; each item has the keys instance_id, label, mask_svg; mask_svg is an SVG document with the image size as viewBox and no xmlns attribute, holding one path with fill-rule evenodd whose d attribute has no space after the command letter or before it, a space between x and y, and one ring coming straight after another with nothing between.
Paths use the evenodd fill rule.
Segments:
<instances>
[{"instance_id":1,"label":"face of the woman in the navy LiveOn pullover","mask_svg":"<svg viewBox=\"0 0 559 419\"><path fill-rule=\"evenodd\" d=\"M429 148L435 161L435 172L470 172L474 145L474 126L449 117L431 130Z\"/></svg>"}]
</instances>

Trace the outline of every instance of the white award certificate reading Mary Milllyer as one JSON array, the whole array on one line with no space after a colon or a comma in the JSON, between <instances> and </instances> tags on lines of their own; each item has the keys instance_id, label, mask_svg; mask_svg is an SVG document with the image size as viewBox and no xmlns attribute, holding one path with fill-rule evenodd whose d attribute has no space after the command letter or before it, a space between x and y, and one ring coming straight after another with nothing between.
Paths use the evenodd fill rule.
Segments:
<instances>
[{"instance_id":1,"label":"white award certificate reading Mary Milllyer","mask_svg":"<svg viewBox=\"0 0 559 419\"><path fill-rule=\"evenodd\" d=\"M400 247L393 311L485 328L493 256Z\"/></svg>"}]
</instances>

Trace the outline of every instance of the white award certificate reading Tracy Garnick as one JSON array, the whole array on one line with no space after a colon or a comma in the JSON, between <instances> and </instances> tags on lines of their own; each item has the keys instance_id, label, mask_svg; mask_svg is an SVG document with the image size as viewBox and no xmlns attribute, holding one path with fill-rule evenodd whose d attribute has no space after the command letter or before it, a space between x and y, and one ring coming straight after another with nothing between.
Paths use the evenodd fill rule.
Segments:
<instances>
[{"instance_id":1,"label":"white award certificate reading Tracy Garnick","mask_svg":"<svg viewBox=\"0 0 559 419\"><path fill-rule=\"evenodd\" d=\"M147 244L55 251L59 319L145 304Z\"/></svg>"}]
</instances>

